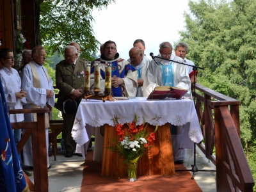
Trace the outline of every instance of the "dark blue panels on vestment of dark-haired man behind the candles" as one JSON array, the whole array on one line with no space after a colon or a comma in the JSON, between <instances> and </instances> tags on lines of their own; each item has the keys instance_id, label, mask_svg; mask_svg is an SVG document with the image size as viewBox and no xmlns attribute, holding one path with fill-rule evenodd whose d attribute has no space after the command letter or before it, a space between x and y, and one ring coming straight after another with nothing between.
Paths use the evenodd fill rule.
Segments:
<instances>
[{"instance_id":1,"label":"dark blue panels on vestment of dark-haired man behind the candles","mask_svg":"<svg viewBox=\"0 0 256 192\"><path fill-rule=\"evenodd\" d=\"M130 63L127 63L127 65L125 65L124 69L122 71L120 71L120 69L118 68L117 63L118 63L117 61L112 62L111 77L116 76L116 77L124 78L130 70L131 71L136 70L134 67L132 67L130 65ZM94 72L94 66L91 69L91 74L93 72ZM100 75L103 79L105 79L105 72L102 69L100 69ZM117 88L112 86L112 95L113 95L113 97L123 97L124 95L122 94L122 91L123 90L122 90L121 84Z\"/></svg>"}]
</instances>

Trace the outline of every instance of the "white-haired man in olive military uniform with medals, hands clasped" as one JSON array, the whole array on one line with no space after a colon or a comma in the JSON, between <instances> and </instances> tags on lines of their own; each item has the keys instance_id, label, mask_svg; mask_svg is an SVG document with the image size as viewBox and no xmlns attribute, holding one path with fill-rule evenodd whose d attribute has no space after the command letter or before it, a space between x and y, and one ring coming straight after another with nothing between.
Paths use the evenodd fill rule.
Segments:
<instances>
[{"instance_id":1,"label":"white-haired man in olive military uniform with medals, hands clasped","mask_svg":"<svg viewBox=\"0 0 256 192\"><path fill-rule=\"evenodd\" d=\"M84 92L84 61L86 60L78 57L77 48L72 45L65 47L64 52L65 60L56 65L56 86L60 90L56 108L61 111L63 116L62 137L66 150L65 157L72 157L76 150L76 142L71 136L76 111L74 113L64 111L63 102L74 99L78 105L81 101Z\"/></svg>"}]
</instances>

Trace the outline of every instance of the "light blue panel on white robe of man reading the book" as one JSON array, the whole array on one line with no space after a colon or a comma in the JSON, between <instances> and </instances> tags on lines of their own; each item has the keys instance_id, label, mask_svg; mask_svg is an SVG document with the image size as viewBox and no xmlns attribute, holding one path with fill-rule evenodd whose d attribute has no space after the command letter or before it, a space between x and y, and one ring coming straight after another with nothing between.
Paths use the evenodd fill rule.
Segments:
<instances>
[{"instance_id":1,"label":"light blue panel on white robe of man reading the book","mask_svg":"<svg viewBox=\"0 0 256 192\"><path fill-rule=\"evenodd\" d=\"M173 62L169 65L161 64L163 86L175 86Z\"/></svg>"}]
</instances>

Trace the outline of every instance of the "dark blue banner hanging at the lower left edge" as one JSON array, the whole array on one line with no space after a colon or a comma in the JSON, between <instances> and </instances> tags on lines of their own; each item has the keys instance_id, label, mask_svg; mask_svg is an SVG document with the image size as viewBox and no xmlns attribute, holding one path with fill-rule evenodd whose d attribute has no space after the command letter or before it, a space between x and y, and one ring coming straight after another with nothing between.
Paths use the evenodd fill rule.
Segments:
<instances>
[{"instance_id":1,"label":"dark blue banner hanging at the lower left edge","mask_svg":"<svg viewBox=\"0 0 256 192\"><path fill-rule=\"evenodd\" d=\"M2 83L0 83L0 122L0 191L23 191L24 189L28 191L13 138Z\"/></svg>"}]
</instances>

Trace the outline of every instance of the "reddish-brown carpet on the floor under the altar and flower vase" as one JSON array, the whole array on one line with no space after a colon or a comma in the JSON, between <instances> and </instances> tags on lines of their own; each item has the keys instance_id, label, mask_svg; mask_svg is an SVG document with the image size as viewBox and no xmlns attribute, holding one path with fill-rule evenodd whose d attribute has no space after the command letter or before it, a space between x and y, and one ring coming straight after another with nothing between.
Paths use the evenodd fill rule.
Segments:
<instances>
[{"instance_id":1,"label":"reddish-brown carpet on the floor under the altar and flower vase","mask_svg":"<svg viewBox=\"0 0 256 192\"><path fill-rule=\"evenodd\" d=\"M140 176L136 182L127 182L127 177L101 177L101 163L92 161L93 152L88 152L84 162L81 192L84 191L202 191L190 172L175 172L174 175ZM184 168L176 164L175 169ZM186 169L186 168L184 168Z\"/></svg>"}]
</instances>

